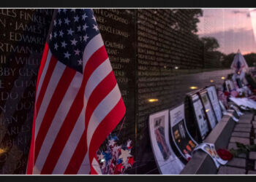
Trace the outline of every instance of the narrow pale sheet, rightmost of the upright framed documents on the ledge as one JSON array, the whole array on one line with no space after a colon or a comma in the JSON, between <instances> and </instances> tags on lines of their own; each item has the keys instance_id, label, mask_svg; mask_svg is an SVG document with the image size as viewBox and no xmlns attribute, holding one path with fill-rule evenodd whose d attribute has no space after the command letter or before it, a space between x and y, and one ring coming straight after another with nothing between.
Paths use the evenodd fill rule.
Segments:
<instances>
[{"instance_id":1,"label":"narrow pale sheet, rightmost of the upright framed documents on the ledge","mask_svg":"<svg viewBox=\"0 0 256 182\"><path fill-rule=\"evenodd\" d=\"M208 96L211 100L211 104L214 108L214 113L217 118L217 122L220 122L220 120L222 119L222 110L219 106L219 99L217 96L216 88L214 85L212 85L210 87L207 87L206 90L207 90Z\"/></svg>"}]
</instances>

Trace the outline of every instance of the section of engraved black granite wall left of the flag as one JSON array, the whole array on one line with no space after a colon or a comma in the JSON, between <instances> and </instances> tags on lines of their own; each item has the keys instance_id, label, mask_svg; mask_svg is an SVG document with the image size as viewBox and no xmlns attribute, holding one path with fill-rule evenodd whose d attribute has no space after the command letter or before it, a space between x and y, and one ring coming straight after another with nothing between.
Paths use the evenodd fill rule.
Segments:
<instances>
[{"instance_id":1,"label":"section of engraved black granite wall left of the flag","mask_svg":"<svg viewBox=\"0 0 256 182\"><path fill-rule=\"evenodd\" d=\"M52 9L0 9L0 174L23 174Z\"/></svg>"}]
</instances>

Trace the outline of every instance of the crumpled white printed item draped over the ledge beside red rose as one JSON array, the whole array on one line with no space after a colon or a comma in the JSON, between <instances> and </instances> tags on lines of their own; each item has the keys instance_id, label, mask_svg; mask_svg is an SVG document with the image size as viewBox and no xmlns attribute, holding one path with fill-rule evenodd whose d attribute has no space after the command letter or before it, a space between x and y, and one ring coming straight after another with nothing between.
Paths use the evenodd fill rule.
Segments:
<instances>
[{"instance_id":1,"label":"crumpled white printed item draped over the ledge beside red rose","mask_svg":"<svg viewBox=\"0 0 256 182\"><path fill-rule=\"evenodd\" d=\"M216 165L217 168L219 168L219 165L227 164L227 160L223 160L222 158L219 157L219 154L217 153L213 143L200 143L198 146L196 146L195 150L193 151L193 154L195 151L199 149L205 151L211 157L211 159L213 159L214 164Z\"/></svg>"}]
</instances>

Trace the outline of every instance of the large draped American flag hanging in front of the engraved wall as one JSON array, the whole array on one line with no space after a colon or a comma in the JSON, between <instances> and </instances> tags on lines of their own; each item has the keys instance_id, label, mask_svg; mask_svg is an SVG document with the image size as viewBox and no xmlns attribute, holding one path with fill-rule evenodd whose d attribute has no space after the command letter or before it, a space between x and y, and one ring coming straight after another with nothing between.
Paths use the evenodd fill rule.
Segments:
<instances>
[{"instance_id":1,"label":"large draped American flag hanging in front of the engraved wall","mask_svg":"<svg viewBox=\"0 0 256 182\"><path fill-rule=\"evenodd\" d=\"M37 79L27 174L100 174L126 108L92 9L56 9Z\"/></svg>"}]
</instances>

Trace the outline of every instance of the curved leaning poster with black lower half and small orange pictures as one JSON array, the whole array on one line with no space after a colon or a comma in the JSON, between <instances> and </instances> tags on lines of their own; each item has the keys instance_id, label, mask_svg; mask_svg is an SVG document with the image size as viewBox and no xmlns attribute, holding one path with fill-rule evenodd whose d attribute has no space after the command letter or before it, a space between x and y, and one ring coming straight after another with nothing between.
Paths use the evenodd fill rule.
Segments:
<instances>
[{"instance_id":1,"label":"curved leaning poster with black lower half and small orange pictures","mask_svg":"<svg viewBox=\"0 0 256 182\"><path fill-rule=\"evenodd\" d=\"M178 151L185 159L189 160L197 142L187 130L184 104L170 110L170 132Z\"/></svg>"}]
</instances>

